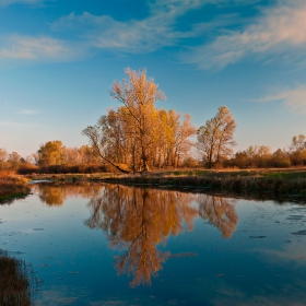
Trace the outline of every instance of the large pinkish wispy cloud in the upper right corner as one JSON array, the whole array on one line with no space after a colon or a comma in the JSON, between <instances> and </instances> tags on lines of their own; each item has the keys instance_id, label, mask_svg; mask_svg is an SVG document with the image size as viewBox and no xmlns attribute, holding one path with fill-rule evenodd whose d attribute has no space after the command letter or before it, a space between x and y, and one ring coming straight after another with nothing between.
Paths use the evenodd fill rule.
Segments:
<instances>
[{"instance_id":1,"label":"large pinkish wispy cloud in the upper right corner","mask_svg":"<svg viewBox=\"0 0 306 306\"><path fill-rule=\"evenodd\" d=\"M196 47L185 60L201 69L223 69L246 57L305 59L306 2L279 1L242 31L227 31L211 44Z\"/></svg>"}]
</instances>

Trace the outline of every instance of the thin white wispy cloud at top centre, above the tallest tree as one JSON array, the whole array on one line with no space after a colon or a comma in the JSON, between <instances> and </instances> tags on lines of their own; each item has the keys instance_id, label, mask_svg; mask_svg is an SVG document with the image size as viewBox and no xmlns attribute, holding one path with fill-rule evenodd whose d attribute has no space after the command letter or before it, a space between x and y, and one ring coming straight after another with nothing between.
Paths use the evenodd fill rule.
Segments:
<instances>
[{"instance_id":1,"label":"thin white wispy cloud at top centre, above the tallest tree","mask_svg":"<svg viewBox=\"0 0 306 306\"><path fill-rule=\"evenodd\" d=\"M143 20L121 22L108 15L93 15L87 12L81 15L71 13L55 22L51 28L78 33L81 39L94 48L134 54L150 52L162 47L178 45L183 39L202 35L212 27L212 24L191 24L189 31L177 30L178 17L188 11L209 3L242 4L246 2L246 0L157 0L150 2L149 16Z\"/></svg>"}]
</instances>

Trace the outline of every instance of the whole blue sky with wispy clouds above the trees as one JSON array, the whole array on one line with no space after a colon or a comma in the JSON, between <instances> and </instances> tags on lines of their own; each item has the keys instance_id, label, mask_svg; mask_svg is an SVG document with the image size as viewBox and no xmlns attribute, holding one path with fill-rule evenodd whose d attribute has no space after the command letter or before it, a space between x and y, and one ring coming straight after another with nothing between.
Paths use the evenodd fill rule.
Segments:
<instances>
[{"instance_id":1,"label":"whole blue sky with wispy clouds above the trees","mask_svg":"<svg viewBox=\"0 0 306 306\"><path fill-rule=\"evenodd\" d=\"M227 106L235 151L306 134L305 0L0 0L0 148L87 144L126 68L197 128Z\"/></svg>"}]
</instances>

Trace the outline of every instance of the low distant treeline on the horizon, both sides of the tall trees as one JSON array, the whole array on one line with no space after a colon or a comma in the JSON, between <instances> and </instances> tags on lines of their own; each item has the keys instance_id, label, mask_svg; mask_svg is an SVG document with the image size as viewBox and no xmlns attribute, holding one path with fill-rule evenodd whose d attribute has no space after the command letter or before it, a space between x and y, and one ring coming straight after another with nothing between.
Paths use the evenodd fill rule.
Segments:
<instances>
[{"instance_id":1,"label":"low distant treeline on the horizon, both sides of the tall trees","mask_svg":"<svg viewBox=\"0 0 306 306\"><path fill-rule=\"evenodd\" d=\"M190 144L196 148L197 143ZM212 167L212 168L285 168L291 166L306 166L306 136L293 137L287 149L271 152L267 145L250 145L245 151L238 151L232 156L222 156L212 164L207 155L197 150L189 153L175 166L179 167ZM174 168L172 165L158 168ZM0 170L13 170L17 174L74 174L118 172L102 160L90 145L81 148L66 148L61 141L48 141L40 145L37 153L23 158L16 152L8 153L0 149Z\"/></svg>"}]
</instances>

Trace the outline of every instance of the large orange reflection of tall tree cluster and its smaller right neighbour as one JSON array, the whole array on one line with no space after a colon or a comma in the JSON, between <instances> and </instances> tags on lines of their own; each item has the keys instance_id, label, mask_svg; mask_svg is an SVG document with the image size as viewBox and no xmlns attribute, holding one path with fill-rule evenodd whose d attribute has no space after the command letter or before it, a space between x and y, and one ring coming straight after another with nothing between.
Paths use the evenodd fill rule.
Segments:
<instances>
[{"instance_id":1,"label":"large orange reflection of tall tree cluster and its smaller right neighbour","mask_svg":"<svg viewBox=\"0 0 306 306\"><path fill-rule=\"evenodd\" d=\"M195 201L199 202L199 210ZM192 204L193 202L193 204ZM103 229L113 248L125 249L115 258L118 274L133 275L131 286L151 284L151 275L162 269L169 252L160 251L169 234L193 229L198 215L214 224L229 238L238 222L234 202L228 199L179 191L107 185L89 208L90 228Z\"/></svg>"}]
</instances>

